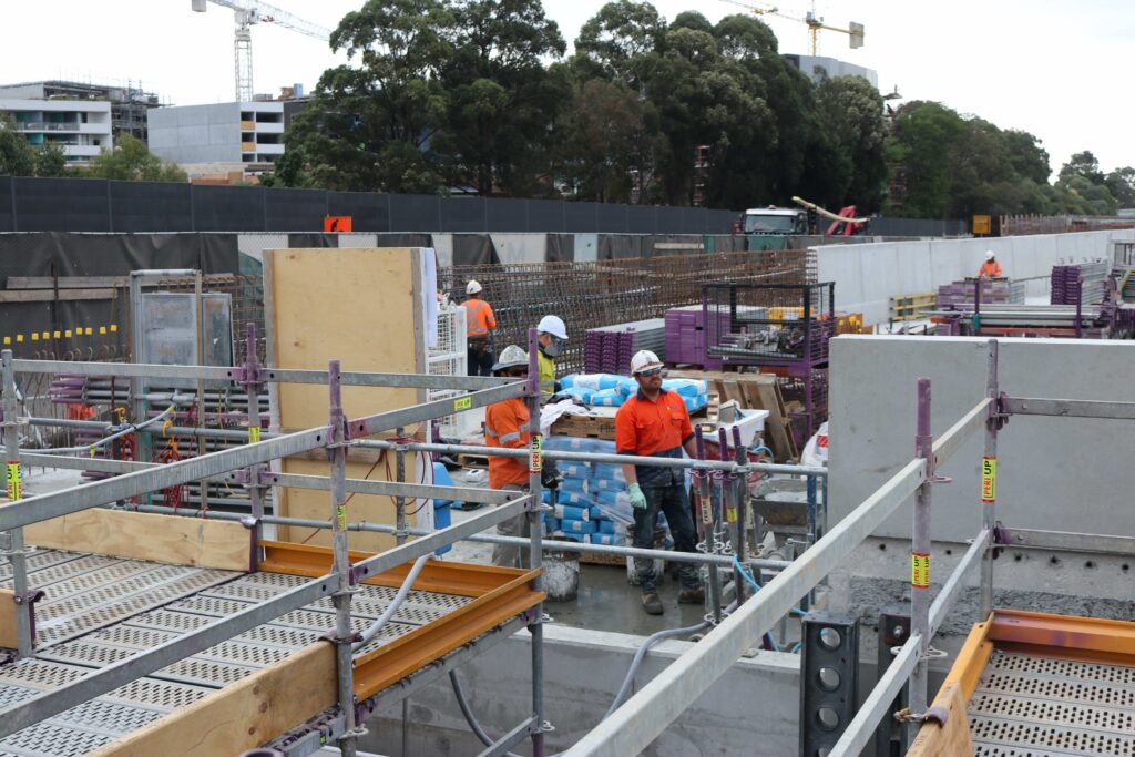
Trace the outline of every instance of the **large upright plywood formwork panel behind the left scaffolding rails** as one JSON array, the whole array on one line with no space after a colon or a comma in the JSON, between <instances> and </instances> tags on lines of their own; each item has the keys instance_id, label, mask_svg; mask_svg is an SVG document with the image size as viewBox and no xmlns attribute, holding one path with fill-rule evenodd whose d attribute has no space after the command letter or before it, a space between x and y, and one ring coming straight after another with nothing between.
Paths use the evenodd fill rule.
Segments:
<instances>
[{"instance_id":1,"label":"large upright plywood formwork panel behind the left scaffolding rails","mask_svg":"<svg viewBox=\"0 0 1135 757\"><path fill-rule=\"evenodd\" d=\"M266 321L269 361L283 368L326 370L329 360L344 371L382 373L426 372L421 256L418 247L309 249L264 251ZM278 422L284 429L327 423L328 393L319 385L280 385ZM426 401L423 389L343 387L348 418L396 410ZM414 429L406 429L412 432ZM389 435L386 435L389 436ZM387 480L394 461L347 461L347 477ZM327 463L289 459L286 473L327 474ZM413 456L406 460L406 480L418 480ZM389 497L354 495L347 505L352 521L394 522ZM327 520L326 491L284 490L280 514ZM286 541L329 545L330 533L281 527ZM384 533L352 532L352 548L381 552L394 546Z\"/></svg>"}]
</instances>

